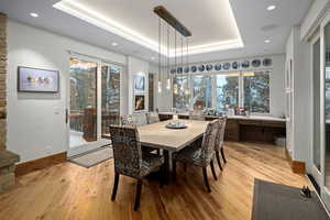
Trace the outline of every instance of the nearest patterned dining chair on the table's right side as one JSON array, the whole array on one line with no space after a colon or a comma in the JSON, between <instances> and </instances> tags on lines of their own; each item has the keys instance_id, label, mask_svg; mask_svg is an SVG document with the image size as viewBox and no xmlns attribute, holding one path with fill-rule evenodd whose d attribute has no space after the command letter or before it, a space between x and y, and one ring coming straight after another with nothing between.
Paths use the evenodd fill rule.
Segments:
<instances>
[{"instance_id":1,"label":"nearest patterned dining chair on the table's right side","mask_svg":"<svg viewBox=\"0 0 330 220\"><path fill-rule=\"evenodd\" d=\"M206 132L202 138L201 146L193 144L182 151L173 154L173 175L176 179L176 163L190 164L202 168L204 182L207 190L210 193L211 188L208 182L207 167L210 165L213 178L218 180L213 157L215 157L215 142L218 132L219 121L213 120L207 125Z\"/></svg>"}]
</instances>

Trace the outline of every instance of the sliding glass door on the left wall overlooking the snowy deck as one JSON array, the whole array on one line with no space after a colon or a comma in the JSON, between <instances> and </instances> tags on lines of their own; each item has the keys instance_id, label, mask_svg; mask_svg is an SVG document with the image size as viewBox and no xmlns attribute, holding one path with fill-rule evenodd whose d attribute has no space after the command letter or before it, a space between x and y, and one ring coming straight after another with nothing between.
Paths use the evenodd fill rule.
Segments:
<instances>
[{"instance_id":1,"label":"sliding glass door on the left wall overlooking the snowy deck","mask_svg":"<svg viewBox=\"0 0 330 220\"><path fill-rule=\"evenodd\" d=\"M109 125L120 117L121 68L99 59L70 58L68 79L68 156L108 145Z\"/></svg>"}]
</instances>

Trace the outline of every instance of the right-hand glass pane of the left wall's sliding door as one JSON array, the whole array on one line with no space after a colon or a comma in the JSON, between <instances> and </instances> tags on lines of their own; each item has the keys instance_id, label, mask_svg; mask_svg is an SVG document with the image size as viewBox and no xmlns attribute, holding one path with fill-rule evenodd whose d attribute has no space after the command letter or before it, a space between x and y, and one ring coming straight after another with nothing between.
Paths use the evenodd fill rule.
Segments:
<instances>
[{"instance_id":1,"label":"right-hand glass pane of the left wall's sliding door","mask_svg":"<svg viewBox=\"0 0 330 220\"><path fill-rule=\"evenodd\" d=\"M120 68L102 65L102 135L110 133L110 124L119 124Z\"/></svg>"}]
</instances>

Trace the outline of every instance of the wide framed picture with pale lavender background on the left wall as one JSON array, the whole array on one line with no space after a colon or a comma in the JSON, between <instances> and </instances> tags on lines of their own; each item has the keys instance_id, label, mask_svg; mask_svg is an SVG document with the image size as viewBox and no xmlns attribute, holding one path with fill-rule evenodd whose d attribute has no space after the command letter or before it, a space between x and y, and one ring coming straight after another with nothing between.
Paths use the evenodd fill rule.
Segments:
<instances>
[{"instance_id":1,"label":"wide framed picture with pale lavender background on the left wall","mask_svg":"<svg viewBox=\"0 0 330 220\"><path fill-rule=\"evenodd\" d=\"M57 70L19 66L18 91L58 92L59 73Z\"/></svg>"}]
</instances>

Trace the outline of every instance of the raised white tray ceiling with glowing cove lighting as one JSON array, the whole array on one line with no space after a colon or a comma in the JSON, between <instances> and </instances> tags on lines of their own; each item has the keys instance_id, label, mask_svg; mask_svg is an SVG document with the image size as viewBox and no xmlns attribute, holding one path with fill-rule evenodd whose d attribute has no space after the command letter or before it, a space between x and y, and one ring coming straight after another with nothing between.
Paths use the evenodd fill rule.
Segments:
<instances>
[{"instance_id":1,"label":"raised white tray ceiling with glowing cove lighting","mask_svg":"<svg viewBox=\"0 0 330 220\"><path fill-rule=\"evenodd\" d=\"M228 0L62 0L54 7L68 14L95 24L125 40L158 52L158 16L153 12L164 6L176 16L193 36L189 37L189 54L242 47L242 41L232 9ZM163 24L166 36L167 26ZM174 31L169 29L170 42L166 48L175 50ZM184 44L185 40L184 40ZM177 37L180 45L180 37ZM169 53L173 54L174 53Z\"/></svg>"}]
</instances>

